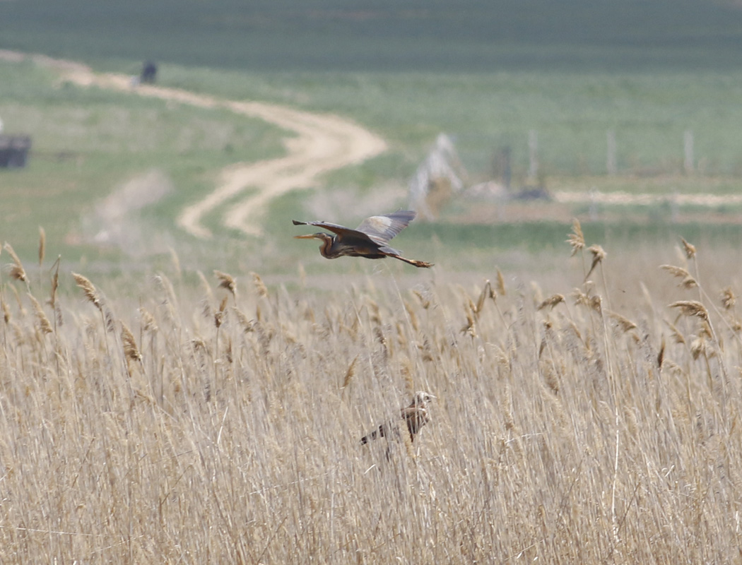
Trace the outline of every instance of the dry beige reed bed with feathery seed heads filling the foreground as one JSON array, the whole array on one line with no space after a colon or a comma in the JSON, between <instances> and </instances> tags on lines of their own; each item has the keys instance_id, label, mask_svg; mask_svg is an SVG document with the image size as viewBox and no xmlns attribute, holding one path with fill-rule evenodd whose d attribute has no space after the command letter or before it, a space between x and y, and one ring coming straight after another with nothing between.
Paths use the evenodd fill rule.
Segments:
<instances>
[{"instance_id":1,"label":"dry beige reed bed with feathery seed heads filling the foreground","mask_svg":"<svg viewBox=\"0 0 742 565\"><path fill-rule=\"evenodd\" d=\"M0 561L738 561L732 290L688 245L618 314L610 257L571 243L589 282L547 297L219 272L59 296L6 246ZM414 445L358 443L418 389Z\"/></svg>"}]
</instances>

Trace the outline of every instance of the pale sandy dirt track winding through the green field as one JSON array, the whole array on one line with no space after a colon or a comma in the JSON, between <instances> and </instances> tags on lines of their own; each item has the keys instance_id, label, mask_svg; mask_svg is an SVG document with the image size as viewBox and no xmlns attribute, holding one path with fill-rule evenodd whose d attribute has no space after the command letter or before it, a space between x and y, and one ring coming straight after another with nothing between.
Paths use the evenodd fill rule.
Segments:
<instances>
[{"instance_id":1,"label":"pale sandy dirt track winding through the green field","mask_svg":"<svg viewBox=\"0 0 742 565\"><path fill-rule=\"evenodd\" d=\"M17 61L25 56L24 53L0 51L1 59ZM214 191L180 213L177 224L196 237L211 237L211 231L203 225L202 219L228 201L233 203L223 214L224 224L243 234L260 235L262 214L271 199L298 188L314 187L322 174L357 164L387 149L383 139L340 116L263 102L218 99L178 88L132 86L130 76L93 73L86 65L42 55L31 57L39 65L58 70L62 80L76 85L94 85L200 108L226 108L244 116L263 119L295 134L284 141L286 156L230 165L222 171L220 184ZM237 199L248 191L249 194Z\"/></svg>"}]
</instances>

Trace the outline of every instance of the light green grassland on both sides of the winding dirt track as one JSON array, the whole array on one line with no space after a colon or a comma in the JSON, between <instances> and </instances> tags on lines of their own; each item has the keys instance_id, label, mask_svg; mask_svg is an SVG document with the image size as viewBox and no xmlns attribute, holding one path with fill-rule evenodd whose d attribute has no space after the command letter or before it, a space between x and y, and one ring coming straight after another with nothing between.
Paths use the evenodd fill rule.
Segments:
<instances>
[{"instance_id":1,"label":"light green grassland on both sides of the winding dirt track","mask_svg":"<svg viewBox=\"0 0 742 565\"><path fill-rule=\"evenodd\" d=\"M274 202L262 242L234 239L233 234L221 230L218 249L214 250L189 237L179 237L171 228L185 203L214 186L220 168L236 160L278 156L282 151L280 130L224 110L168 106L137 96L60 85L53 73L30 62L1 62L0 76L4 79L0 81L0 116L6 130L29 131L34 136L30 166L0 176L4 234L13 234L2 237L27 256L33 254L37 227L42 225L51 252L72 261L85 256L87 260L116 262L117 248L91 245L99 226L88 220L108 194L151 171L159 171L177 188L145 208L137 219L140 231L159 234L160 245L154 252L165 253L173 247L190 256L192 250L200 249L195 263L201 264L205 254L207 260L215 260L217 268L223 261L234 265L247 251L257 254L253 261L258 265L265 262L270 269L285 271L282 265L295 262L306 251L298 245L301 242L275 242L285 234L286 218L306 215L302 204L306 195L302 193ZM327 176L326 197L330 199L348 191L369 196L383 186L398 194L395 205L404 205L407 179L440 131L456 140L470 182L490 178L493 153L510 145L513 180L516 185L525 183L529 128L539 132L539 160L547 188L587 191L597 187L657 194L735 194L741 188L736 171L742 155L742 142L737 139L742 130L737 103L742 74L735 78L706 73L700 75L702 80L694 73L660 77L508 72L311 75L163 65L161 76L164 85L223 98L261 99L352 116L380 133L391 151ZM608 128L617 136L618 176L604 174ZM695 152L703 163L703 170L693 176L682 173L682 137L687 128L695 133ZM454 259L456 249L470 241L492 254L513 246L533 250L539 241L554 241L543 226L525 230L525 238L510 237L521 230L508 225L507 213L505 219L500 217L501 227L485 228L500 229L504 236L482 238L482 228L462 222L473 206L482 208L477 202L452 202L439 222L420 226L418 234L424 235L413 230L404 234L403 243L409 243L400 243L401 247L418 255L435 251L433 259L441 262ZM334 218L338 221L361 218L358 214L346 217L338 205L328 210L341 214ZM584 216L587 211L586 205L575 205L550 218L557 220L563 232L573 215ZM611 221L628 220L636 229L611 228L605 233L628 232L634 234L634 242L654 238L646 225L664 226L660 231L669 235L686 233L686 228L670 224L670 211L661 205L607 212ZM703 222L703 211L697 212L696 224ZM737 209L732 206L721 213L729 224L723 228L722 240L737 239ZM218 217L207 218L207 222L220 230ZM730 236L729 231L734 234ZM701 230L703 237L711 240L718 232ZM429 244L433 236L441 242L435 250ZM263 252L251 251L257 248ZM277 254L284 254L287 260L275 257ZM320 265L331 270L346 268Z\"/></svg>"}]
</instances>

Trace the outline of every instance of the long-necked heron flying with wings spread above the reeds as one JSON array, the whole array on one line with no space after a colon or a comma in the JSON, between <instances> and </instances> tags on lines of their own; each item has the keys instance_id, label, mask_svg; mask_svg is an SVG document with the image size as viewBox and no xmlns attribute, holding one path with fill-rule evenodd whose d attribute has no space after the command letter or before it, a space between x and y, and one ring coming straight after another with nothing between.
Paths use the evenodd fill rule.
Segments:
<instances>
[{"instance_id":1,"label":"long-necked heron flying with wings spread above the reeds","mask_svg":"<svg viewBox=\"0 0 742 565\"><path fill-rule=\"evenodd\" d=\"M364 219L355 230L344 228L342 225L329 222L298 222L293 220L294 225L316 225L332 231L335 235L309 234L295 236L296 239L319 239L322 242L320 253L327 259L337 259L347 255L349 257L366 257L367 259L384 259L394 257L400 261L410 263L416 267L432 267L433 263L407 259L401 257L401 251L390 248L387 245L407 225L415 219L416 212L410 210L399 210L391 214L372 216Z\"/></svg>"}]
</instances>

